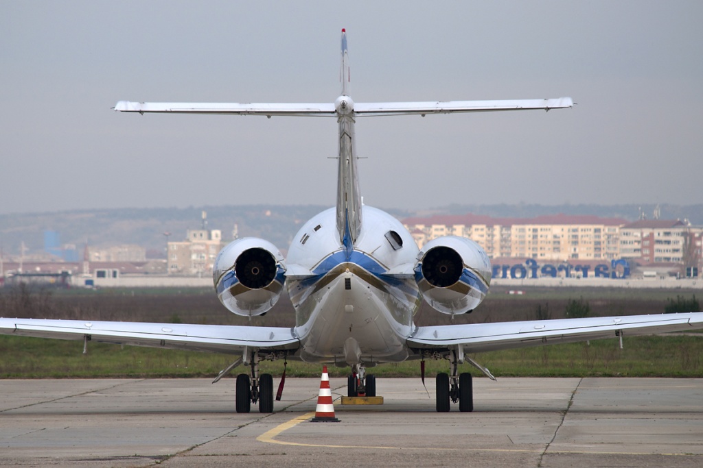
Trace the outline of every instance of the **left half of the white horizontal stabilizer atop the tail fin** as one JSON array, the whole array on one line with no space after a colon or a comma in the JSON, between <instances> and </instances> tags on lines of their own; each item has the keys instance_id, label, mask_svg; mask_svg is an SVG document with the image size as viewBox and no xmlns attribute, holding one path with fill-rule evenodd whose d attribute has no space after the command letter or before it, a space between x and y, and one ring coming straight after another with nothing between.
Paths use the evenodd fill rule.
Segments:
<instances>
[{"instance_id":1,"label":"left half of the white horizontal stabilizer atop the tail fin","mask_svg":"<svg viewBox=\"0 0 703 468\"><path fill-rule=\"evenodd\" d=\"M129 102L115 104L119 112L160 112L162 114L233 114L265 116L336 117L333 102Z\"/></svg>"}]
</instances>

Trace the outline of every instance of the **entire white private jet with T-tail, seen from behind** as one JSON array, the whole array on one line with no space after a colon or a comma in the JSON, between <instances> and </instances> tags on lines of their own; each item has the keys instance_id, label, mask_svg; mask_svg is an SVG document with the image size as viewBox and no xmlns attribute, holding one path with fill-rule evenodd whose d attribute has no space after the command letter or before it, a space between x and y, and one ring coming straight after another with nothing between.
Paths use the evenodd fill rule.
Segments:
<instances>
[{"instance_id":1,"label":"entire white private jet with T-tail, seen from behind","mask_svg":"<svg viewBox=\"0 0 703 468\"><path fill-rule=\"evenodd\" d=\"M262 359L297 359L349 367L349 396L375 396L366 373L381 363L447 359L451 374L437 375L437 411L473 410L472 376L458 373L468 362L491 379L488 369L467 354L555 343L703 328L703 313L661 314L415 326L424 298L444 314L477 307L491 282L488 255L457 236L434 239L418 249L411 234L391 215L361 202L356 171L354 123L380 115L449 114L572 107L571 98L452 102L354 102L349 96L347 36L342 29L342 94L335 102L302 104L117 102L121 112L328 116L339 123L337 206L309 220L283 258L263 239L233 241L214 265L214 288L222 304L243 316L265 314L285 285L295 307L293 328L207 326L37 319L0 319L0 333L193 349L240 356L215 381L243 363L250 373L236 380L236 410L248 413L259 402L273 411L273 378L259 375ZM284 370L285 375L285 370ZM250 378L251 376L251 378ZM282 387L279 388L279 392Z\"/></svg>"}]
</instances>

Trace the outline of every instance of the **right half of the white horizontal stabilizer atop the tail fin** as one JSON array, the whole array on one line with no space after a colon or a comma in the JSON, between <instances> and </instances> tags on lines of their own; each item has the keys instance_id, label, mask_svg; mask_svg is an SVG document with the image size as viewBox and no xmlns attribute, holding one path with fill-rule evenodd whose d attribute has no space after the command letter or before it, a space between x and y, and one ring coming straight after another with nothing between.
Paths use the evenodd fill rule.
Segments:
<instances>
[{"instance_id":1,"label":"right half of the white horizontal stabilizer atop the tail fin","mask_svg":"<svg viewBox=\"0 0 703 468\"><path fill-rule=\"evenodd\" d=\"M491 112L529 109L563 109L572 107L572 98L519 99L497 101L430 101L430 102L356 102L357 116L453 114L455 112Z\"/></svg>"}]
</instances>

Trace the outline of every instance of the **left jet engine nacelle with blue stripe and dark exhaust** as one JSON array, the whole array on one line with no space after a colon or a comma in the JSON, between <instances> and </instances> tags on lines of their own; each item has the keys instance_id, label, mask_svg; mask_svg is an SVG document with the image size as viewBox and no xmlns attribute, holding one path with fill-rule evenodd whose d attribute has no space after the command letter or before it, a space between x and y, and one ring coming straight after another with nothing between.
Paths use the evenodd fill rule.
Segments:
<instances>
[{"instance_id":1,"label":"left jet engine nacelle with blue stripe and dark exhaust","mask_svg":"<svg viewBox=\"0 0 703 468\"><path fill-rule=\"evenodd\" d=\"M283 255L264 239L237 239L220 250L212 269L217 297L237 315L261 315L278 302L285 282Z\"/></svg>"}]
</instances>

